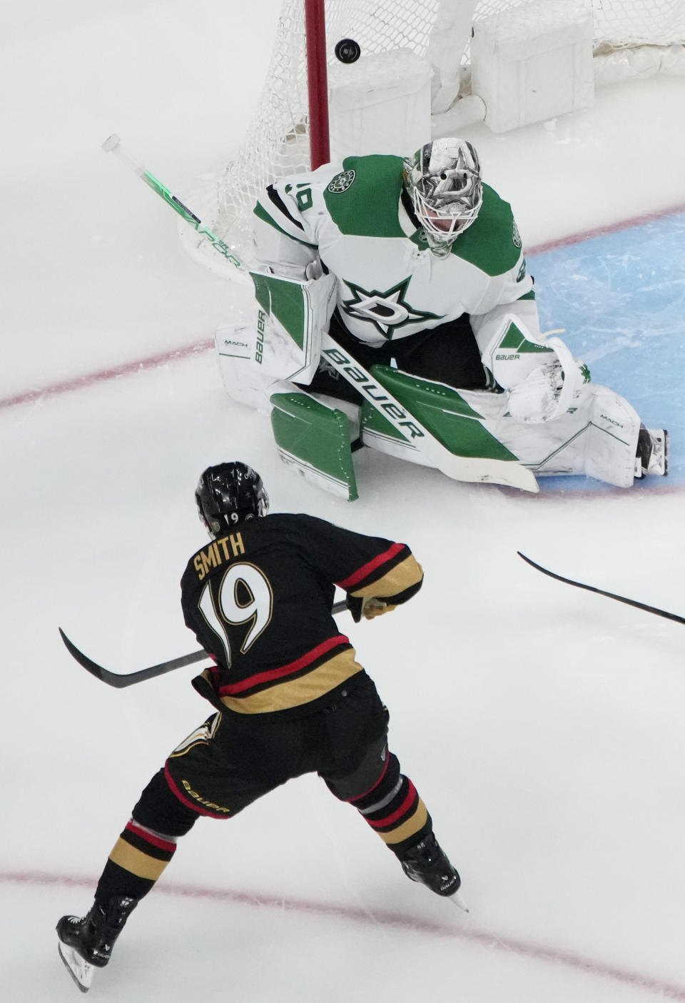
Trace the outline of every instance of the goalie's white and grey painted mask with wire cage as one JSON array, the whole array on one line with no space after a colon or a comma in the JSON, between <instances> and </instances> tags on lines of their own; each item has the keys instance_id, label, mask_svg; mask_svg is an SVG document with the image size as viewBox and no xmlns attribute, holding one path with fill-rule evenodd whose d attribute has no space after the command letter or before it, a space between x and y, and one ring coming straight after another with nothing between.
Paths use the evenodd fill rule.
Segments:
<instances>
[{"instance_id":1,"label":"goalie's white and grey painted mask with wire cage","mask_svg":"<svg viewBox=\"0 0 685 1003\"><path fill-rule=\"evenodd\" d=\"M478 155L466 139L435 139L404 161L404 189L428 247L445 258L482 204Z\"/></svg>"}]
</instances>

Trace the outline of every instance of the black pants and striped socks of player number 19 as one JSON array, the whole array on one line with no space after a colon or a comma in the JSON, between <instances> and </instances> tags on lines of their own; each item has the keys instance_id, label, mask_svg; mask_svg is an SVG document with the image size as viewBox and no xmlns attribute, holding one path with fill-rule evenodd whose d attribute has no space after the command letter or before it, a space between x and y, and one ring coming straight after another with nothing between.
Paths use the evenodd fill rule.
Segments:
<instances>
[{"instance_id":1,"label":"black pants and striped socks of player number 19","mask_svg":"<svg viewBox=\"0 0 685 1003\"><path fill-rule=\"evenodd\" d=\"M423 801L387 746L388 712L372 680L353 676L335 702L265 723L217 712L172 753L142 791L100 878L96 901L142 898L200 815L230 818L304 773L318 773L400 860L431 830Z\"/></svg>"}]
</instances>

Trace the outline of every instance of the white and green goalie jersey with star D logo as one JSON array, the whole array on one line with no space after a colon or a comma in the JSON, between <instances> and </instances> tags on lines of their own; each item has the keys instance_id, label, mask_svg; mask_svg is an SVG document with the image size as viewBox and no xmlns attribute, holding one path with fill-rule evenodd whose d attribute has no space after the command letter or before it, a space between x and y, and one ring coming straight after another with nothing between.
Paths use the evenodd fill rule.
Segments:
<instances>
[{"instance_id":1,"label":"white and green goalie jersey with star D logo","mask_svg":"<svg viewBox=\"0 0 685 1003\"><path fill-rule=\"evenodd\" d=\"M540 333L511 208L483 185L480 212L438 258L402 185L402 157L348 156L281 179L255 207L255 251L275 274L305 278L320 260L338 280L347 329L370 345L469 314L480 351L504 314Z\"/></svg>"}]
</instances>

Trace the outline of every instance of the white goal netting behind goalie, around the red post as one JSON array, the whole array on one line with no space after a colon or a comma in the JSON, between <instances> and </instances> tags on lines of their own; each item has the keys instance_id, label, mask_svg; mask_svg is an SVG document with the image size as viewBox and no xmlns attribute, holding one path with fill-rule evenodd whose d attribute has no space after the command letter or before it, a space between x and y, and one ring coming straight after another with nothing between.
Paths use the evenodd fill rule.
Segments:
<instances>
[{"instance_id":1,"label":"white goal netting behind goalie, around the red post","mask_svg":"<svg viewBox=\"0 0 685 1003\"><path fill-rule=\"evenodd\" d=\"M189 195L203 222L248 265L254 264L250 223L258 195L277 178L308 171L311 165L305 2L283 2L266 86L240 149ZM592 7L594 14L596 82L668 71L670 59L683 57L685 0L581 2ZM461 14L455 17L457 6ZM466 0L460 5L453 0L326 0L326 51L320 58L327 62L329 72L335 72L340 67L335 44L352 38L364 55L408 49L427 58L435 79L467 80L471 18L477 25L481 19L519 9L524 21L527 0ZM679 62L675 71L682 72L681 67ZM343 152L332 137L331 158ZM186 250L205 267L236 276L209 242L188 228L181 233Z\"/></svg>"}]
</instances>

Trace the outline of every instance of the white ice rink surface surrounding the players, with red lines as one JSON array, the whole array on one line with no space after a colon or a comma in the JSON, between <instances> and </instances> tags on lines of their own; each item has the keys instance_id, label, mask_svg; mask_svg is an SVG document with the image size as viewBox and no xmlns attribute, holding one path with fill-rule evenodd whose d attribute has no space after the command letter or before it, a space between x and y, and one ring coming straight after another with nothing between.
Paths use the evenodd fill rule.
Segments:
<instances>
[{"instance_id":1,"label":"white ice rink surface surrounding the players, with red lines","mask_svg":"<svg viewBox=\"0 0 685 1003\"><path fill-rule=\"evenodd\" d=\"M198 823L90 998L685 1000L685 634L516 555L685 613L682 488L533 497L362 450L358 501L317 492L280 464L268 421L226 397L212 353L189 348L211 339L230 290L99 148L117 131L180 192L211 170L250 117L278 6L72 0L4 15L0 397L28 402L0 407L2 999L76 999L54 924L88 908L140 789L209 712L192 668L115 691L72 661L57 626L116 671L194 650L178 583L203 543L195 481L237 457L274 509L406 540L423 565L405 609L339 622L471 912L407 882L304 777L230 822ZM684 90L635 81L579 115L468 137L534 248L682 202ZM593 269L592 244L534 259L539 296L555 326L587 323L568 280L582 269L604 324L593 364L611 385L612 338L633 339L622 358L644 374L644 407L682 422L678 245L668 228L645 240L631 254L647 246L659 279L651 330L667 315L670 333L626 330L645 310L618 273Z\"/></svg>"}]
</instances>

